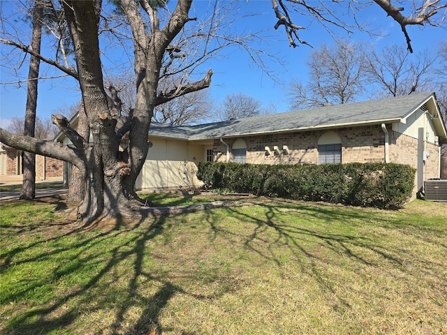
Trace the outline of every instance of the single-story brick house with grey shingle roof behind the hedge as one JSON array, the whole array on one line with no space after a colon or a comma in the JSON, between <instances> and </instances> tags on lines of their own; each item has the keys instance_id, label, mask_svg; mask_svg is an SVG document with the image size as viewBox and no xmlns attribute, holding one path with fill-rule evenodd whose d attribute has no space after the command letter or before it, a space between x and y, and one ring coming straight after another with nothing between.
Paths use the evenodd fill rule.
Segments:
<instances>
[{"instance_id":1,"label":"single-story brick house with grey shingle roof behind the hedge","mask_svg":"<svg viewBox=\"0 0 447 335\"><path fill-rule=\"evenodd\" d=\"M425 179L439 178L447 133L435 94L426 93L212 124L153 123L149 140L136 189L200 186L196 166L203 161L386 162L417 169L416 194Z\"/></svg>"}]
</instances>

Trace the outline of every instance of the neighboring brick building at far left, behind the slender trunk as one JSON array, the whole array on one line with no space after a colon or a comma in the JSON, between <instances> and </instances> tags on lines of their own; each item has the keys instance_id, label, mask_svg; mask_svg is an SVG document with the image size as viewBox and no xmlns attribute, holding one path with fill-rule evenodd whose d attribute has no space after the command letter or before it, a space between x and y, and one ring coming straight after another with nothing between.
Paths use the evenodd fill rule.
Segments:
<instances>
[{"instance_id":1,"label":"neighboring brick building at far left, behind the slender trunk","mask_svg":"<svg viewBox=\"0 0 447 335\"><path fill-rule=\"evenodd\" d=\"M0 143L0 175L21 175L22 151ZM45 180L64 176L64 162L54 158L36 155L36 179Z\"/></svg>"}]
</instances>

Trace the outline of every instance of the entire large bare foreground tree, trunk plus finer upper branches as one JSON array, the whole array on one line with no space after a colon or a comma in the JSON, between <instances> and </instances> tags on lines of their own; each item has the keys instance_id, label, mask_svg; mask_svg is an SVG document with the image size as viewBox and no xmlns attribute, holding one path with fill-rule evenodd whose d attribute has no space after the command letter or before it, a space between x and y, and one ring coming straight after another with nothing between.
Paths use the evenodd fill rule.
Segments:
<instances>
[{"instance_id":1,"label":"entire large bare foreground tree, trunk plus finer upper branches","mask_svg":"<svg viewBox=\"0 0 447 335\"><path fill-rule=\"evenodd\" d=\"M101 13L105 8L98 0L62 1L64 17L73 40L76 68L66 68L43 55L37 56L79 81L92 143L89 144L88 138L71 128L68 119L61 115L53 115L52 121L71 140L71 147L61 147L54 142L22 137L0 129L2 142L17 149L59 158L80 170L85 180L85 198L78 207L78 215L86 223L109 217L135 218L152 211L142 207L134 185L149 149L147 137L142 134L149 131L154 108L209 87L212 70L191 80L193 70L200 70L200 64L223 47L244 45L244 36L235 35L231 29L228 34L224 33L223 23L226 22L221 20L224 14L228 14L225 10L221 12L214 8L210 20L198 25L190 23L197 21L196 17L189 16L191 3L191 0L177 1L172 10L163 3L153 6L152 1L145 0L122 0L119 3L125 20L116 29L103 31L122 38L122 43L129 41L129 33L133 37L136 99L133 110L125 114L122 113L123 103L118 90L104 84L99 33L105 27L100 18L108 17ZM194 27L195 30L191 31ZM184 35L185 31L188 32L187 36ZM20 43L1 41L36 54ZM128 46L124 49L127 50ZM185 53L183 57L182 50L192 52ZM182 80L179 87L159 89L159 80L179 73L186 74L189 80ZM120 152L119 141L126 133L129 134L129 144L124 152Z\"/></svg>"}]
</instances>

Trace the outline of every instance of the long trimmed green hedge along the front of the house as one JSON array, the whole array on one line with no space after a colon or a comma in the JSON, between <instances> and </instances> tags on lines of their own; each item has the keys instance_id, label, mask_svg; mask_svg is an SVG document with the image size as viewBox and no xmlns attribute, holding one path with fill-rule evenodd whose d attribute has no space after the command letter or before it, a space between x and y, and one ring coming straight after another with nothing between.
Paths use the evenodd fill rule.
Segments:
<instances>
[{"instance_id":1,"label":"long trimmed green hedge along the front of the house","mask_svg":"<svg viewBox=\"0 0 447 335\"><path fill-rule=\"evenodd\" d=\"M293 200L397 208L411 197L416 169L394 163L255 165L200 163L208 189Z\"/></svg>"}]
</instances>

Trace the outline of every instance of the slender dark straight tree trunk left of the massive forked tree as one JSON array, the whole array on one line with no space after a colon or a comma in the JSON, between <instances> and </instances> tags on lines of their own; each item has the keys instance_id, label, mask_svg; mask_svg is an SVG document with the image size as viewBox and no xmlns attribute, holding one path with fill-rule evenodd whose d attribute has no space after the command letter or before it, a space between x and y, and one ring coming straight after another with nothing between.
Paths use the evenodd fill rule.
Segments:
<instances>
[{"instance_id":1,"label":"slender dark straight tree trunk left of the massive forked tree","mask_svg":"<svg viewBox=\"0 0 447 335\"><path fill-rule=\"evenodd\" d=\"M33 13L33 33L31 48L41 53L43 2L36 0ZM24 135L34 137L36 129L37 86L39 76L38 57L31 55L29 60L27 111L25 112ZM45 168L45 167L44 167ZM36 196L36 154L24 151L23 153L23 184L20 199L31 200Z\"/></svg>"}]
</instances>

